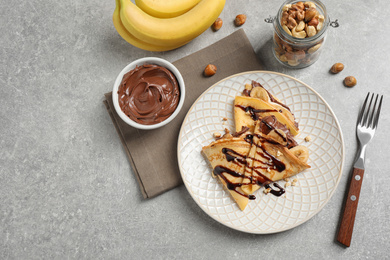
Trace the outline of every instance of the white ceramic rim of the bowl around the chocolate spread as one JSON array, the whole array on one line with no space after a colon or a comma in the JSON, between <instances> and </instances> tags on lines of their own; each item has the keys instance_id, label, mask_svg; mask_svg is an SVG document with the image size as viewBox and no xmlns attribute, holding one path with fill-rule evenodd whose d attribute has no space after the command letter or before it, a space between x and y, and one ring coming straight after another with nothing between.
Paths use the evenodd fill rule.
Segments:
<instances>
[{"instance_id":1,"label":"white ceramic rim of the bowl around the chocolate spread","mask_svg":"<svg viewBox=\"0 0 390 260\"><path fill-rule=\"evenodd\" d=\"M141 66L144 64L156 64L156 65L165 67L168 70L170 70L175 75L177 82L179 83L179 89L180 89L180 100L179 100L179 104L176 107L176 110L172 113L172 115L170 117L168 117L164 121L157 123L157 124L153 124L153 125L143 125L143 124L139 124L139 123L136 123L133 120L131 120L122 111L122 109L119 106L119 101L118 101L118 88L119 88L120 83L122 82L123 76L127 72L135 69L135 67L137 65ZM115 80L114 88L112 90L112 101L114 103L115 110L118 113L118 115L120 116L120 118L122 118L122 120L125 121L128 125L135 127L135 128L138 128L138 129L142 129L142 130L156 129L156 128L162 127L162 126L168 124L169 122L171 122L177 116L177 114L179 114L179 112L183 106L183 103L184 103L184 98L185 98L185 85L184 85L183 77L180 74L179 70L169 61L161 59L161 58L156 58L156 57L146 57L146 58L141 58L141 59L138 59L138 60L131 62L129 65L127 65L119 73L118 77Z\"/></svg>"}]
</instances>

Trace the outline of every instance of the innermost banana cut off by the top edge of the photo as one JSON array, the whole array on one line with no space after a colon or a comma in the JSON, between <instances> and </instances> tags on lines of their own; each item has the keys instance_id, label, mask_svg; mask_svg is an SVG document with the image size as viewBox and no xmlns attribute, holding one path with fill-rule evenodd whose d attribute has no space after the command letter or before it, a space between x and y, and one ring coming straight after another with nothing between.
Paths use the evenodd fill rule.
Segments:
<instances>
[{"instance_id":1,"label":"innermost banana cut off by the top edge of the photo","mask_svg":"<svg viewBox=\"0 0 390 260\"><path fill-rule=\"evenodd\" d=\"M172 18L184 14L200 0L135 0L145 13L158 18Z\"/></svg>"}]
</instances>

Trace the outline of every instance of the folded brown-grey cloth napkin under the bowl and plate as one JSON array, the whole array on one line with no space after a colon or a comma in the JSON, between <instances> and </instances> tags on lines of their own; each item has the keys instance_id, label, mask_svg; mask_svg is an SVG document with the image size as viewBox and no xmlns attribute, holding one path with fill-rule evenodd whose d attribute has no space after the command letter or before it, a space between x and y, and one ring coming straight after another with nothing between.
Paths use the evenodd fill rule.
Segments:
<instances>
[{"instance_id":1,"label":"folded brown-grey cloth napkin under the bowl and plate","mask_svg":"<svg viewBox=\"0 0 390 260\"><path fill-rule=\"evenodd\" d=\"M105 94L103 101L144 198L152 198L183 183L177 162L177 139L183 119L195 100L227 76L263 68L243 29L173 64L184 78L186 97L182 110L168 125L148 131L132 128L115 112L112 92ZM217 67L212 77L203 76L208 64Z\"/></svg>"}]
</instances>

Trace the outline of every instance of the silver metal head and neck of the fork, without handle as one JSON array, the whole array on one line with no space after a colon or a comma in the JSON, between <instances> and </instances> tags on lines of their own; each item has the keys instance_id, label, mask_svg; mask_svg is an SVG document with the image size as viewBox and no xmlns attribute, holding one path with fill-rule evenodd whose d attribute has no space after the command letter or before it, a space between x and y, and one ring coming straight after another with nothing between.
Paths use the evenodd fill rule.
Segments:
<instances>
[{"instance_id":1,"label":"silver metal head and neck of the fork, without handle","mask_svg":"<svg viewBox=\"0 0 390 260\"><path fill-rule=\"evenodd\" d=\"M370 97L371 96L371 97ZM375 97L375 101L374 101ZM382 107L383 95L380 97L378 104L379 95L370 93L367 94L364 100L362 109L359 113L356 126L356 134L360 142L360 151L358 158L354 164L354 167L364 169L364 158L367 144L372 140L375 134L375 130L378 126L379 114ZM374 101L374 103L373 103Z\"/></svg>"}]
</instances>

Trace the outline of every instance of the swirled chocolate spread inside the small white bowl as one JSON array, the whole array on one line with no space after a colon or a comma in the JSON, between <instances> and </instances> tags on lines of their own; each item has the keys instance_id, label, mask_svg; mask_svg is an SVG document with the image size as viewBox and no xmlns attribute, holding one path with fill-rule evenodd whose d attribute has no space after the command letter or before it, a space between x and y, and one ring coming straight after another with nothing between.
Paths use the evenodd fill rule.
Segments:
<instances>
[{"instance_id":1,"label":"swirled chocolate spread inside the small white bowl","mask_svg":"<svg viewBox=\"0 0 390 260\"><path fill-rule=\"evenodd\" d=\"M123 76L118 88L122 111L133 121L153 125L167 119L180 99L173 73L159 65L136 66Z\"/></svg>"}]
</instances>

